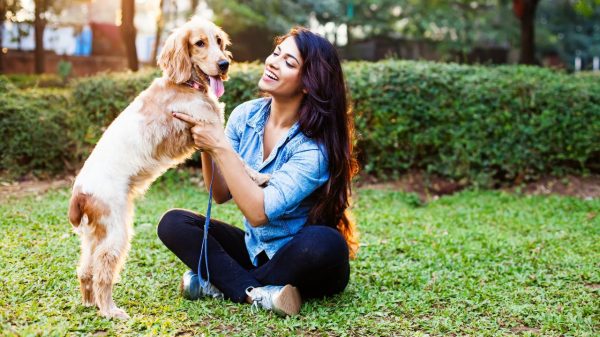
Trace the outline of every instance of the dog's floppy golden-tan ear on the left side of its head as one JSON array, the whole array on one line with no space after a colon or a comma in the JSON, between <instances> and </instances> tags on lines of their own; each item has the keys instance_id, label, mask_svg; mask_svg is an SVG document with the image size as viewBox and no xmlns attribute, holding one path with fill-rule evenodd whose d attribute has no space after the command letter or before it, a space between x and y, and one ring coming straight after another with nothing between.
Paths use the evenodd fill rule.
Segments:
<instances>
[{"instance_id":1,"label":"dog's floppy golden-tan ear on the left side of its head","mask_svg":"<svg viewBox=\"0 0 600 337\"><path fill-rule=\"evenodd\" d=\"M175 83L183 83L192 76L189 35L189 30L177 29L169 35L158 56L158 66Z\"/></svg>"}]
</instances>

